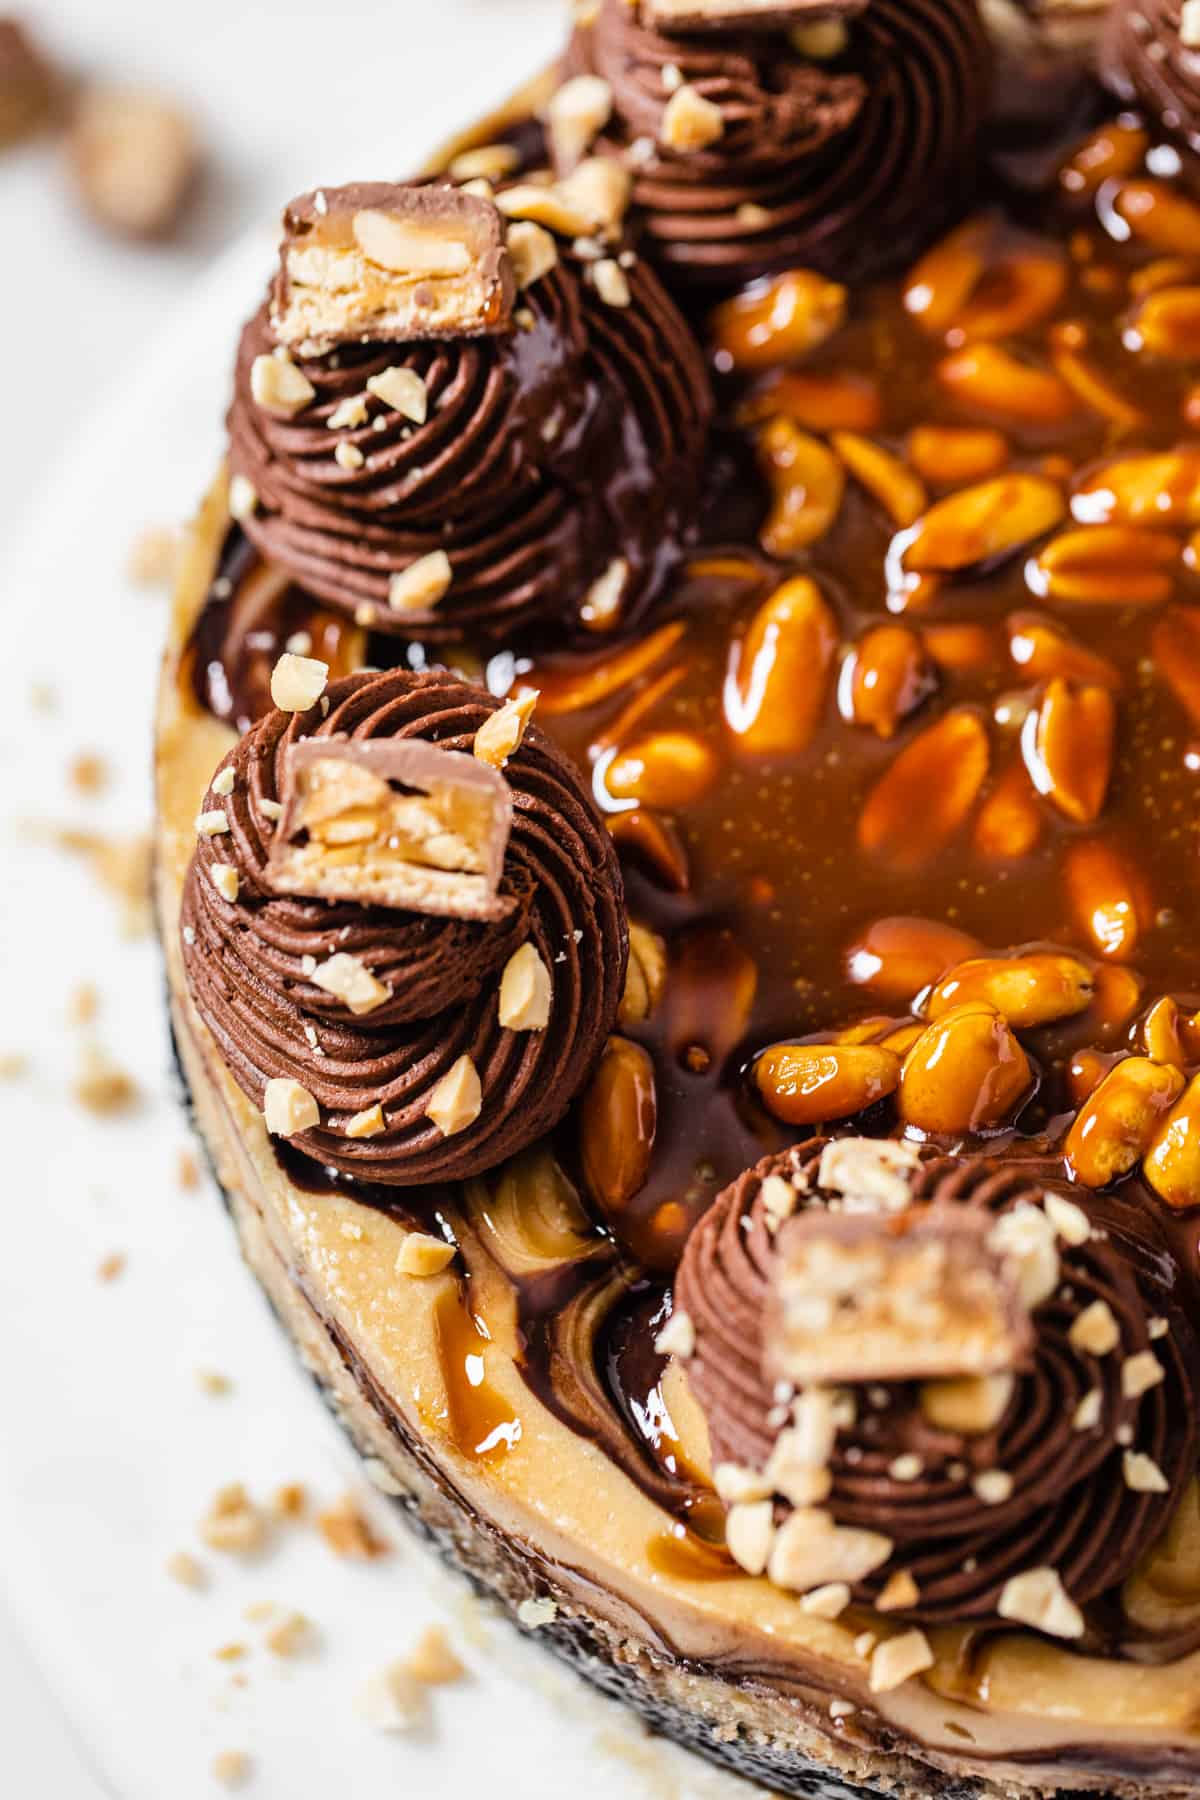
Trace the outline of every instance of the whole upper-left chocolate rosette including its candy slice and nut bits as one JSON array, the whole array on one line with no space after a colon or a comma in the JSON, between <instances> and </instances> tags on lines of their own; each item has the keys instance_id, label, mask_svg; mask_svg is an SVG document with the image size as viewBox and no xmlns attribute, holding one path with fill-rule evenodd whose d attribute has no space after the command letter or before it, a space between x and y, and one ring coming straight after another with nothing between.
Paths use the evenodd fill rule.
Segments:
<instances>
[{"instance_id":1,"label":"whole upper-left chocolate rosette including its candy slice and nut bits","mask_svg":"<svg viewBox=\"0 0 1200 1800\"><path fill-rule=\"evenodd\" d=\"M613 207L552 216L619 232ZM588 623L596 583L599 623L658 592L691 533L703 362L646 263L574 245L441 184L291 202L228 414L230 493L273 565L426 641Z\"/></svg>"}]
</instances>

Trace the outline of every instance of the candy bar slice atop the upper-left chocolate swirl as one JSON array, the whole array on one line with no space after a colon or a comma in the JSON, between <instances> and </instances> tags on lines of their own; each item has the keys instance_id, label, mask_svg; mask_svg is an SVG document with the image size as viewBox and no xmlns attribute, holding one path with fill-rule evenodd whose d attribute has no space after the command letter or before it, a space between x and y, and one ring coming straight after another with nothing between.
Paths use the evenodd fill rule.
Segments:
<instances>
[{"instance_id":1,"label":"candy bar slice atop the upper-left chocolate swirl","mask_svg":"<svg viewBox=\"0 0 1200 1800\"><path fill-rule=\"evenodd\" d=\"M504 220L455 187L354 182L284 211L272 324L322 355L363 338L480 337L513 322Z\"/></svg>"}]
</instances>

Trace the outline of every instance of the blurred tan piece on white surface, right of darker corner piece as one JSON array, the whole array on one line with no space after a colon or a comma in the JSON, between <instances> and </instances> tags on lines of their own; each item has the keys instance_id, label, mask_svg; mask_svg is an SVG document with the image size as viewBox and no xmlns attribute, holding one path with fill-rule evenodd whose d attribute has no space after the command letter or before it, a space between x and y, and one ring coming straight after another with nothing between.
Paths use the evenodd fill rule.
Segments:
<instances>
[{"instance_id":1,"label":"blurred tan piece on white surface, right of darker corner piece","mask_svg":"<svg viewBox=\"0 0 1200 1800\"><path fill-rule=\"evenodd\" d=\"M178 220L200 169L185 112L130 88L85 92L67 133L67 157L86 211L128 238L158 238Z\"/></svg>"}]
</instances>

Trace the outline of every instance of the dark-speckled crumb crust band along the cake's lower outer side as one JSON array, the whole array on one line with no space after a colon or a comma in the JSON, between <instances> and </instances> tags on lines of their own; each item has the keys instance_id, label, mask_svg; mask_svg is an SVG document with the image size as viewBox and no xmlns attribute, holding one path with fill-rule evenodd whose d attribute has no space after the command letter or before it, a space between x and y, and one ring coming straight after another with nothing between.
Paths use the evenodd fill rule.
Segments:
<instances>
[{"instance_id":1,"label":"dark-speckled crumb crust band along the cake's lower outer side","mask_svg":"<svg viewBox=\"0 0 1200 1800\"><path fill-rule=\"evenodd\" d=\"M1105 1789L1015 1786L948 1773L914 1759L905 1744L887 1737L858 1744L835 1739L817 1723L815 1705L797 1705L754 1676L675 1658L588 1611L578 1595L578 1573L570 1573L576 1591L569 1593L567 1571L533 1544L502 1534L455 1492L428 1449L394 1415L353 1346L322 1318L286 1267L230 1156L221 1152L218 1103L207 1102L200 1049L193 1046L189 1055L189 1030L169 983L167 1008L180 1102L223 1195L243 1258L275 1318L358 1454L385 1465L398 1490L390 1498L408 1528L479 1595L495 1600L524 1636L536 1634L585 1681L637 1712L653 1733L797 1800L1051 1800L1054 1795L1063 1800L1195 1800L1193 1787L1148 1787L1137 1780ZM558 1616L545 1625L522 1625L516 1618L522 1600L545 1598L558 1604Z\"/></svg>"}]
</instances>

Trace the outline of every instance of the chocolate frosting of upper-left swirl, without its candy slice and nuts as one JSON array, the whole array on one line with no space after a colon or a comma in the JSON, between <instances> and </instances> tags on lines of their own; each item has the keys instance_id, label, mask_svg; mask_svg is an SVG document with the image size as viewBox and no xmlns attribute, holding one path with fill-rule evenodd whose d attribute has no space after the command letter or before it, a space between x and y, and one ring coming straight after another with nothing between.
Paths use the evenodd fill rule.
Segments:
<instances>
[{"instance_id":1,"label":"chocolate frosting of upper-left swirl, without its candy slice and nuts","mask_svg":"<svg viewBox=\"0 0 1200 1800\"><path fill-rule=\"evenodd\" d=\"M360 623L428 643L572 626L613 560L626 565L619 616L635 616L691 536L712 405L653 268L624 272L628 306L606 304L587 270L560 245L511 331L297 355L313 398L291 418L252 391L255 360L275 349L263 304L228 412L259 551ZM423 421L369 389L389 369L419 376ZM450 558L446 594L389 610L392 578L435 551Z\"/></svg>"}]
</instances>

